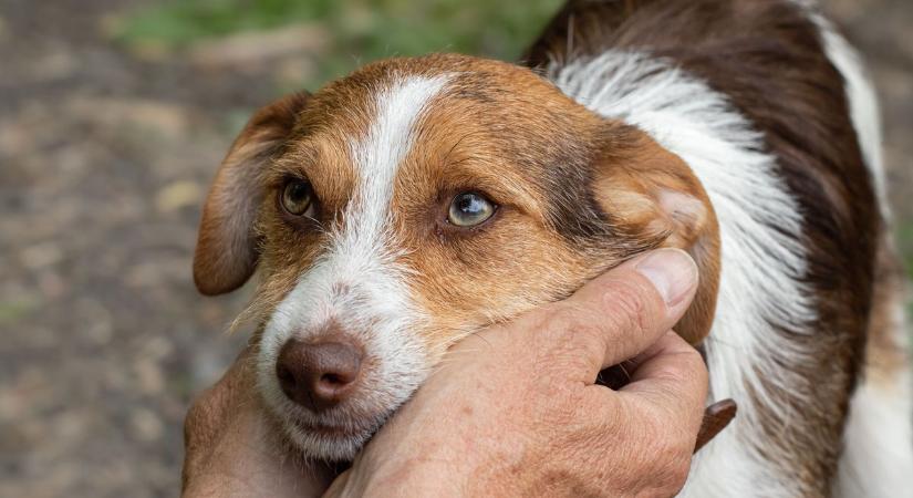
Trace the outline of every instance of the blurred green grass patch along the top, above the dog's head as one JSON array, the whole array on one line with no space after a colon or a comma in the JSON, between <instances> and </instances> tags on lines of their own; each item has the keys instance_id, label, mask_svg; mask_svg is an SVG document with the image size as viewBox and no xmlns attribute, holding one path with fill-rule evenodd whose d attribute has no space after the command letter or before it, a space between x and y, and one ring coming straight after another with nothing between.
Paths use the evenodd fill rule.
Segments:
<instances>
[{"instance_id":1,"label":"blurred green grass patch along the top, above the dog's head","mask_svg":"<svg viewBox=\"0 0 913 498\"><path fill-rule=\"evenodd\" d=\"M562 0L169 0L122 19L128 45L179 50L200 40L293 23L330 35L313 87L359 64L436 51L516 59Z\"/></svg>"}]
</instances>

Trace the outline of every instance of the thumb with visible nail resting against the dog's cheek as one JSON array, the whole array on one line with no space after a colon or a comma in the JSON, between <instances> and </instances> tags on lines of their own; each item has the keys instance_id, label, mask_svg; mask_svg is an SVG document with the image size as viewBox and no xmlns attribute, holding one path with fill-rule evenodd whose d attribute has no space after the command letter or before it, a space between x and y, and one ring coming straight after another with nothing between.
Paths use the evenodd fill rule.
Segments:
<instances>
[{"instance_id":1,"label":"thumb with visible nail resting against the dog's cheek","mask_svg":"<svg viewBox=\"0 0 913 498\"><path fill-rule=\"evenodd\" d=\"M584 382L655 343L682 318L697 289L697 267L678 249L660 249L606 272L536 313L537 356L578 355Z\"/></svg>"}]
</instances>

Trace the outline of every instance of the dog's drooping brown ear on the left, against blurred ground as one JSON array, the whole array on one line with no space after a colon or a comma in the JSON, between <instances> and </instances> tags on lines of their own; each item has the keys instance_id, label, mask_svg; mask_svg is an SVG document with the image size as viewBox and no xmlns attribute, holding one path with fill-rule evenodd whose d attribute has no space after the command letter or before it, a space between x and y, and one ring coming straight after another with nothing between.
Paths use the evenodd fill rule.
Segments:
<instances>
[{"instance_id":1,"label":"dog's drooping brown ear on the left, against blurred ground","mask_svg":"<svg viewBox=\"0 0 913 498\"><path fill-rule=\"evenodd\" d=\"M309 98L300 92L259 110L222 160L203 208L194 255L194 282L201 293L230 292L253 273L263 167L286 144Z\"/></svg>"}]
</instances>

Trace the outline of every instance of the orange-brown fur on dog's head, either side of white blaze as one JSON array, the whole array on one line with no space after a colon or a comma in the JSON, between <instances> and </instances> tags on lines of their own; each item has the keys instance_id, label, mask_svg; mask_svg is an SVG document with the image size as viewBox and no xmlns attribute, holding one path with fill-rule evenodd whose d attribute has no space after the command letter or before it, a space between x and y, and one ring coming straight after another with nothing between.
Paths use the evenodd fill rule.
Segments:
<instances>
[{"instance_id":1,"label":"orange-brown fur on dog's head, either side of white blaze","mask_svg":"<svg viewBox=\"0 0 913 498\"><path fill-rule=\"evenodd\" d=\"M595 116L527 70L458 55L371 64L313 95L305 107L272 105L260 112L283 108L290 113L283 122L293 126L281 154L263 157L259 166L247 164L257 170L248 188L266 193L256 229L225 226L214 216L219 211L208 209L200 230L253 229L248 241L263 274L253 307L260 320L307 271L326 234L344 222L338 214L357 181L349 143L363 136L373 115L365 89L393 74L444 72L459 76L417 124L421 139L400 166L391 206L407 255L401 263L416 274L413 295L434 318L418 331L432 356L467 331L568 295L605 269L660 246L692 249L705 270L699 304L682 325L692 342L703 339L716 301L718 235L713 208L691 170L643 132ZM250 143L258 136L249 126L238 142L258 146ZM236 164L226 162L222 170ZM640 180L631 181L632 175ZM277 205L290 177L312 183L317 220L289 217ZM210 199L221 199L222 188L217 178ZM446 208L468 189L484 191L499 208L483 227L455 229L445 221ZM619 204L625 189L632 196L649 193L653 209L631 219L631 207ZM665 212L660 195L672 193L695 199L697 209ZM214 268L204 249L197 268ZM219 261L219 251L211 255Z\"/></svg>"}]
</instances>

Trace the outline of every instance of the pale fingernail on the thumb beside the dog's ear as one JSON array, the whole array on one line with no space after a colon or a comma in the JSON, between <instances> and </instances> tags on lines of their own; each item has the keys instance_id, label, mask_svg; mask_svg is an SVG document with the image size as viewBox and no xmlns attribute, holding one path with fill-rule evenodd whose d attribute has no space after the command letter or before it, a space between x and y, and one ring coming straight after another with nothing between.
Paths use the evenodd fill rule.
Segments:
<instances>
[{"instance_id":1,"label":"pale fingernail on the thumb beside the dog's ear","mask_svg":"<svg viewBox=\"0 0 913 498\"><path fill-rule=\"evenodd\" d=\"M697 284L697 266L681 249L658 249L634 267L663 297L667 307L678 304Z\"/></svg>"}]
</instances>

